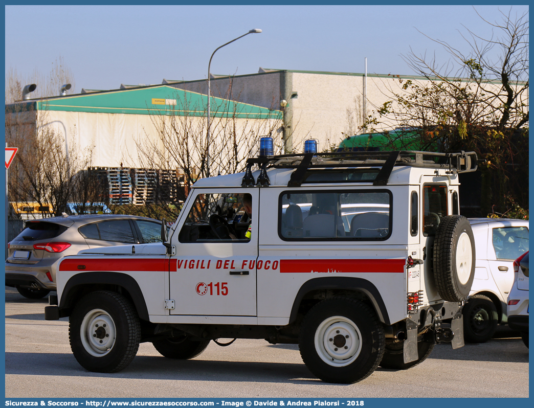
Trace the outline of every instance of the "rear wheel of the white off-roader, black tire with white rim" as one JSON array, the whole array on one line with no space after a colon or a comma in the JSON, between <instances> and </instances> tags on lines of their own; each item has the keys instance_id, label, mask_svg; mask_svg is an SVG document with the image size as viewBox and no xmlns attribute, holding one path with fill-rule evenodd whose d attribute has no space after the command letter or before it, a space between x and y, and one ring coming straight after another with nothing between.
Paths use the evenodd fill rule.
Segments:
<instances>
[{"instance_id":1,"label":"rear wheel of the white off-roader, black tire with white rim","mask_svg":"<svg viewBox=\"0 0 534 408\"><path fill-rule=\"evenodd\" d=\"M384 330L374 311L359 300L334 297L304 317L299 348L304 364L325 382L352 384L378 367Z\"/></svg>"}]
</instances>

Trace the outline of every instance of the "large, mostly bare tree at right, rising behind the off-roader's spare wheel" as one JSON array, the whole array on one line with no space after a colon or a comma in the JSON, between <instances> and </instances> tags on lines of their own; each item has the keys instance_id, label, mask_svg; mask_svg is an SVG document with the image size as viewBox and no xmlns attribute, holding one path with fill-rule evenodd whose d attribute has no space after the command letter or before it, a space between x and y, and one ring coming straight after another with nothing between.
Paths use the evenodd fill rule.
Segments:
<instances>
[{"instance_id":1,"label":"large, mostly bare tree at right, rising behind the off-roader's spare wheel","mask_svg":"<svg viewBox=\"0 0 534 408\"><path fill-rule=\"evenodd\" d=\"M390 88L390 100L362 128L412 127L441 151L477 152L484 160L482 212L488 214L504 213L512 201L528 208L529 19L510 9L500 22L484 21L493 35L483 38L466 28L467 52L431 38L451 56L443 65L413 50L404 56L425 81L395 76L398 88Z\"/></svg>"}]
</instances>

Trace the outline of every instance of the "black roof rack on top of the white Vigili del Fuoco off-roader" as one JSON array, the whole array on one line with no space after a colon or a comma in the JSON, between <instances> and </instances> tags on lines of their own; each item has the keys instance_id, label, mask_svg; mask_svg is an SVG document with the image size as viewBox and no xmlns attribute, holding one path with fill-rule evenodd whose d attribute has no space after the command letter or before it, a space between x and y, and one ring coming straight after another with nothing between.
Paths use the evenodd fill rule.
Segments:
<instances>
[{"instance_id":1,"label":"black roof rack on top of the white Vigili del Fuoco off-roader","mask_svg":"<svg viewBox=\"0 0 534 408\"><path fill-rule=\"evenodd\" d=\"M252 175L252 166L260 167L257 181ZM380 168L373 185L387 185L391 171L396 166L422 167L429 169L447 169L446 174L476 171L477 155L475 152L436 153L420 151L384 151L384 152L332 152L281 154L277 156L260 156L247 160L242 187L270 185L268 168L296 169L291 175L288 187L300 187L309 169L328 168Z\"/></svg>"}]
</instances>

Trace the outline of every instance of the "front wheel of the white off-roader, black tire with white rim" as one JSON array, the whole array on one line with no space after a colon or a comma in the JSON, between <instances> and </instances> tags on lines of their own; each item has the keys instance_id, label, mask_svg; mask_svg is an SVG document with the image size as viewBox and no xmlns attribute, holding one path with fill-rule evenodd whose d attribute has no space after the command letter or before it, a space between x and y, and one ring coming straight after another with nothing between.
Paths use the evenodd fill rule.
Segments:
<instances>
[{"instance_id":1,"label":"front wheel of the white off-roader, black tire with white rim","mask_svg":"<svg viewBox=\"0 0 534 408\"><path fill-rule=\"evenodd\" d=\"M140 340L137 311L118 293L89 293L70 315L70 348L77 362L89 371L121 371L137 354Z\"/></svg>"}]
</instances>

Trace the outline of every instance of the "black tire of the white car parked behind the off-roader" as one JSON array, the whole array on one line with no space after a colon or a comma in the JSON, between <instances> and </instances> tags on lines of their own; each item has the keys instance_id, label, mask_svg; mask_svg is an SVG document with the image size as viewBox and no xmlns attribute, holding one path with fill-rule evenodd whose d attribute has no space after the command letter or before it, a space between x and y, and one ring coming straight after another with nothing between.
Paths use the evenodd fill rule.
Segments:
<instances>
[{"instance_id":1,"label":"black tire of the white car parked behind the off-roader","mask_svg":"<svg viewBox=\"0 0 534 408\"><path fill-rule=\"evenodd\" d=\"M469 343L485 343L497 331L499 315L491 299L483 295L469 297L464 309L464 339Z\"/></svg>"}]
</instances>

